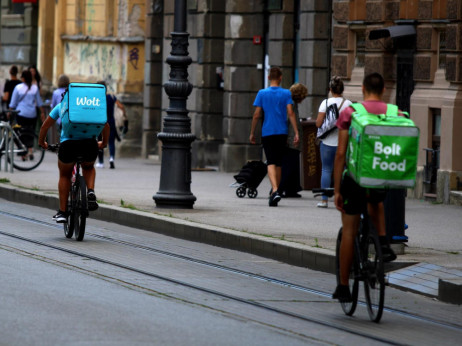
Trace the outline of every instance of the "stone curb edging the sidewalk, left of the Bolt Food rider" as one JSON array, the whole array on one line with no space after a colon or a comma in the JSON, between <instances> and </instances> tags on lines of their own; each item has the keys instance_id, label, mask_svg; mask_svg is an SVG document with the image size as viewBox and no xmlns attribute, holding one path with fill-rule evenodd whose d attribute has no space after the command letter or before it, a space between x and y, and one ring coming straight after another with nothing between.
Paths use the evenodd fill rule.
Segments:
<instances>
[{"instance_id":1,"label":"stone curb edging the sidewalk, left of the Bolt Food rider","mask_svg":"<svg viewBox=\"0 0 462 346\"><path fill-rule=\"evenodd\" d=\"M59 201L56 195L5 184L0 184L0 198L53 210ZM335 253L331 250L112 205L100 204L98 210L91 213L91 218L335 273Z\"/></svg>"}]
</instances>

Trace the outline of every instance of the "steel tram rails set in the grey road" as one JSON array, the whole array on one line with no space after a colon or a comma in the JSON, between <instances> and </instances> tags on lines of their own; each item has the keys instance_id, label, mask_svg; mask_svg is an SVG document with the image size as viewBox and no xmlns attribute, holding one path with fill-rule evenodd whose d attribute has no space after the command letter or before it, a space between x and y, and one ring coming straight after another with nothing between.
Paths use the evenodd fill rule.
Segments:
<instances>
[{"instance_id":1,"label":"steel tram rails set in the grey road","mask_svg":"<svg viewBox=\"0 0 462 346\"><path fill-rule=\"evenodd\" d=\"M48 228L62 230L62 227L60 225L51 224L51 223L36 220L36 219L33 219L33 218L20 216L20 215L14 214L14 213L0 211L0 214L4 215L4 216L11 217L11 218L20 219L22 221L26 221L26 222L29 222L29 223L32 223L32 224L40 224L40 225L48 227ZM135 267L126 265L124 263L111 261L111 260L108 260L108 259L105 259L105 258L94 256L94 255L91 255L91 254L88 254L88 253L84 253L82 251L75 251L75 250L72 250L72 249L67 249L67 248L64 248L62 246L49 244L49 243L46 243L46 242L43 242L43 241L35 240L35 239L32 239L32 238L28 238L28 237L23 237L23 236L13 234L13 233L9 233L9 232L5 232L5 231L2 231L2 230L0 230L0 234L3 235L3 236L15 238L17 240L33 243L35 245L51 248L51 249L54 249L54 250L59 250L59 251L62 251L62 252L68 253L68 254L72 254L74 256L78 256L78 257L90 259L90 260L93 260L93 261L97 261L99 263L111 265L111 266L114 266L114 267L117 267L117 268L128 270L128 271L131 271L131 272L134 272L134 273L137 273L137 274L141 274L141 275L144 275L144 276L149 276L151 278L163 280L163 281L166 281L166 282L169 282L169 283L180 285L182 287L194 289L194 290L197 290L197 291L200 291L200 292L203 292L203 293L212 294L212 295L224 298L224 299L228 299L228 300L232 300L232 301L239 302L239 303L242 303L242 304L250 305L250 306L253 306L253 307L256 307L256 308L259 308L259 309L264 309L266 311L271 311L271 312L278 313L278 314L281 314L281 315L284 315L284 316L297 318L299 320L303 320L303 321L306 321L306 322L309 322L309 323L314 323L314 324L322 325L322 326L325 326L325 327L328 327L328 328L333 328L333 329L336 329L336 330L339 330L339 331L342 331L342 332L346 332L346 333L353 334L353 335L356 335L356 336L364 337L364 338L367 338L369 340L374 340L374 341L383 342L383 343L387 343L387 344L393 344L393 345L400 344L400 343L397 343L396 341L394 341L392 339L378 337L376 335L368 334L368 333L365 333L365 332L362 332L362 331L353 330L351 328L345 327L345 326L340 325L340 324L335 324L335 323L332 323L332 322L326 322L326 321L323 321L323 320L320 320L320 319L313 318L311 316L298 314L298 313L295 313L295 312L292 312L292 311L280 309L280 308L277 308L277 307L274 307L274 306L271 306L271 305L268 305L268 304L257 302L255 300L249 300L249 299L241 298L241 297L238 297L238 296L235 296L235 295L232 295L232 294L220 292L220 291L213 290L213 289L210 289L210 288L207 288L207 287L202 287L202 286L198 286L198 285L195 285L195 284L191 284L191 283L183 281L183 280L177 280L177 279L167 277L167 276L164 276L164 275L159 275L159 274L156 274L154 272L150 272L150 271L142 270L142 269L139 269L139 268L135 268ZM323 291L320 291L320 290L317 290L317 289L301 286L301 285L298 285L298 284L294 284L294 283L291 283L291 282L287 282L287 281L284 281L284 280L279 280L279 279L264 276L264 275L259 275L259 274L243 271L243 270L240 270L240 269L235 269L235 268L223 266L223 265L220 265L220 264L200 260L200 259L189 257L189 256L176 254L176 253L161 250L161 249L156 249L156 248L153 248L153 247L150 247L150 246L136 244L136 243L133 243L133 242L128 242L128 241L125 241L125 240L116 239L116 238L113 238L113 237L99 235L99 234L95 234L95 233L91 233L91 232L87 233L87 237L94 237L94 238L100 239L102 241L117 243L117 244L122 245L122 246L128 246L128 247L140 249L140 250L143 250L143 251L156 253L157 255L167 256L167 257L175 258L177 260L187 261L187 262L190 262L190 263L194 263L194 264L201 265L201 266L206 266L206 267L213 268L213 269L216 269L216 270L226 271L226 272L229 272L229 273L232 273L232 274L235 274L235 275L246 276L246 277L251 278L251 279L265 281L265 282L269 282L271 284L275 284L275 285L279 285L279 286L283 286L283 287L288 287L290 289L303 291L303 292L307 292L307 293L310 293L310 294L315 294L315 295L322 296L322 297L325 297L325 298L330 298L330 293L323 292ZM361 302L361 303L365 304L364 302ZM450 328L450 329L456 330L458 332L462 331L462 327L458 326L456 324L444 323L444 322L437 321L437 320L434 320L434 319L430 319L430 318L427 318L427 317L414 315L414 314L411 314L409 312L401 311L401 310L398 310L398 309L386 308L385 311L387 311L389 313L392 313L392 314L398 314L398 315L403 316L405 318L411 318L411 319L419 320L421 322L425 322L425 323L429 323L429 324L433 324L433 325L438 325L440 327ZM366 322L366 323L369 323L369 322Z\"/></svg>"}]
</instances>

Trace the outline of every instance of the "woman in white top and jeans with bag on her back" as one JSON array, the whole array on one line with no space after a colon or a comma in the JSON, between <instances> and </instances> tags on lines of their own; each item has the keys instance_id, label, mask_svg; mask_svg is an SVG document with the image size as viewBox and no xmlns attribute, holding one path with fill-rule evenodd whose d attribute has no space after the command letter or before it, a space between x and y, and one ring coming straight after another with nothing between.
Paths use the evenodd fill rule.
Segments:
<instances>
[{"instance_id":1,"label":"woman in white top and jeans with bag on her back","mask_svg":"<svg viewBox=\"0 0 462 346\"><path fill-rule=\"evenodd\" d=\"M329 92L332 97L329 97L323 100L319 106L318 117L316 119L316 127L321 128L326 119L326 112L332 112L332 109L337 110L337 117L351 105L350 100L343 98L343 81L340 77L334 76L329 82ZM333 106L335 104L335 106ZM331 107L333 106L333 107ZM331 109L329 109L331 107ZM334 159L337 152L338 145L338 129L335 127L333 130L329 131L327 135L318 136L320 140L320 151L321 151L321 188L331 187L332 182L332 172L334 170ZM318 208L327 208L327 196L322 196L321 202L318 203Z\"/></svg>"}]
</instances>

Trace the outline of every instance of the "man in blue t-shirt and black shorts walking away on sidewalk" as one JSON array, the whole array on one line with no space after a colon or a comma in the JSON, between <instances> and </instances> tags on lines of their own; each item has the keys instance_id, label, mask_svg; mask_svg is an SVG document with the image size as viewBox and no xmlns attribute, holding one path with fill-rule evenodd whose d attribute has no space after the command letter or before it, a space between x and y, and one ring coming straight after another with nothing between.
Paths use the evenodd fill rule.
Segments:
<instances>
[{"instance_id":1,"label":"man in blue t-shirt and black shorts walking away on sidewalk","mask_svg":"<svg viewBox=\"0 0 462 346\"><path fill-rule=\"evenodd\" d=\"M272 187L269 206L277 207L278 202L281 200L278 187L281 182L282 158L287 142L287 116L295 132L294 145L298 144L299 137L293 110L292 95L289 90L280 87L282 81L281 69L279 67L272 67L268 79L270 86L260 90L253 103L256 108L250 130L250 143L256 144L255 128L262 117L263 110L265 116L263 118L261 142L265 150L268 177Z\"/></svg>"}]
</instances>

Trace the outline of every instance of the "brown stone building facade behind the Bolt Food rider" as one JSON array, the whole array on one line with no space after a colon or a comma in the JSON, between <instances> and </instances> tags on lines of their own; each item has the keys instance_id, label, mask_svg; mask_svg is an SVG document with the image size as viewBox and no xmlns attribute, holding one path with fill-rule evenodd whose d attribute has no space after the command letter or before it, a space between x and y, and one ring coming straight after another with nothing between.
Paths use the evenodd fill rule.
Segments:
<instances>
[{"instance_id":1,"label":"brown stone building facade behind the Bolt Food rider","mask_svg":"<svg viewBox=\"0 0 462 346\"><path fill-rule=\"evenodd\" d=\"M386 101L409 111L420 128L410 194L452 202L462 189L462 1L338 0L333 9L332 74L345 79L345 96L360 100L364 74L380 72ZM391 26L397 36L370 39ZM399 36L409 33L403 27L414 35Z\"/></svg>"}]
</instances>

